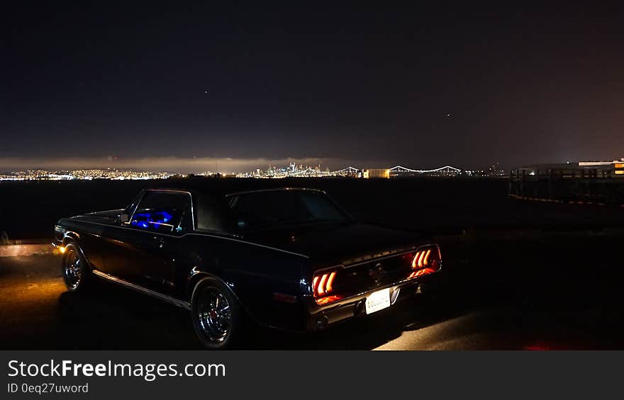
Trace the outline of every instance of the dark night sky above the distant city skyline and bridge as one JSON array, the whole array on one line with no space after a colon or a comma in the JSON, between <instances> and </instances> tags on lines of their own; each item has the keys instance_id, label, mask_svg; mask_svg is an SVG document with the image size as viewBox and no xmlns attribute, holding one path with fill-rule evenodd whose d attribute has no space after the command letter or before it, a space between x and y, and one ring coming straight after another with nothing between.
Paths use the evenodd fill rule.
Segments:
<instances>
[{"instance_id":1,"label":"dark night sky above the distant city skyline and bridge","mask_svg":"<svg viewBox=\"0 0 624 400\"><path fill-rule=\"evenodd\" d=\"M624 156L611 6L20 3L0 17L0 164Z\"/></svg>"}]
</instances>

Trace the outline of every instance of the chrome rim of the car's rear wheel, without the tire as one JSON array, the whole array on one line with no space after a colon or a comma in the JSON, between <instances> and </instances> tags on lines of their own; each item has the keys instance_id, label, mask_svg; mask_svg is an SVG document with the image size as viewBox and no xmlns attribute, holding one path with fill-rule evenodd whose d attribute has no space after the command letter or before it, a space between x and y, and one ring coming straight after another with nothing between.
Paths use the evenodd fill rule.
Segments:
<instances>
[{"instance_id":1,"label":"chrome rim of the car's rear wheel, without the tire","mask_svg":"<svg viewBox=\"0 0 624 400\"><path fill-rule=\"evenodd\" d=\"M197 319L202 333L212 342L220 343L232 328L232 312L228 299L213 286L204 287L197 304Z\"/></svg>"}]
</instances>

